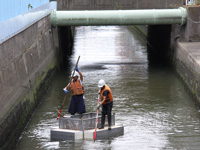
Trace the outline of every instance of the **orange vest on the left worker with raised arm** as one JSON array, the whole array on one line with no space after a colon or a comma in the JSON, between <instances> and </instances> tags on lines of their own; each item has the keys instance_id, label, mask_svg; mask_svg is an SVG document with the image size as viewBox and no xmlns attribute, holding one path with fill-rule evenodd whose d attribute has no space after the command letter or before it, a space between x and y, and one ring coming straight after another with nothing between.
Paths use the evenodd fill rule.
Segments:
<instances>
[{"instance_id":1,"label":"orange vest on the left worker with raised arm","mask_svg":"<svg viewBox=\"0 0 200 150\"><path fill-rule=\"evenodd\" d=\"M76 82L71 81L71 91L73 96L84 94L83 86L79 79Z\"/></svg>"}]
</instances>

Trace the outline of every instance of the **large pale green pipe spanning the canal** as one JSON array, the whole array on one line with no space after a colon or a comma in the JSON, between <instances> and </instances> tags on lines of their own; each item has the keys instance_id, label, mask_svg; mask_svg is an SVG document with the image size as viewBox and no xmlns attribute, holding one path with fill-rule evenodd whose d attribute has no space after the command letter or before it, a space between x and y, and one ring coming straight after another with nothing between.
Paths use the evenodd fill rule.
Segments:
<instances>
[{"instance_id":1,"label":"large pale green pipe spanning the canal","mask_svg":"<svg viewBox=\"0 0 200 150\"><path fill-rule=\"evenodd\" d=\"M52 11L51 24L56 26L92 25L156 25L180 24L186 22L187 11L178 9L148 10L94 10L94 11Z\"/></svg>"}]
</instances>

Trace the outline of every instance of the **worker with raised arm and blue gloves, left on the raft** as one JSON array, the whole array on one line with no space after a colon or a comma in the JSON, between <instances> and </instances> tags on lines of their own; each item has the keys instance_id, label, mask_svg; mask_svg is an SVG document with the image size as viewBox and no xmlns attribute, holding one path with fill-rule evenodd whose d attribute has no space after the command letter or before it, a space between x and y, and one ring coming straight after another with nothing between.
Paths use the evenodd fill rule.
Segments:
<instances>
[{"instance_id":1,"label":"worker with raised arm and blue gloves, left on the raft","mask_svg":"<svg viewBox=\"0 0 200 150\"><path fill-rule=\"evenodd\" d=\"M79 79L80 75L80 79ZM74 118L75 113L83 114L85 113L85 103L83 99L84 87L83 87L83 75L76 67L75 72L72 71L72 81L63 90L67 94L69 88L71 88L72 97L68 112L71 114L70 118Z\"/></svg>"}]
</instances>

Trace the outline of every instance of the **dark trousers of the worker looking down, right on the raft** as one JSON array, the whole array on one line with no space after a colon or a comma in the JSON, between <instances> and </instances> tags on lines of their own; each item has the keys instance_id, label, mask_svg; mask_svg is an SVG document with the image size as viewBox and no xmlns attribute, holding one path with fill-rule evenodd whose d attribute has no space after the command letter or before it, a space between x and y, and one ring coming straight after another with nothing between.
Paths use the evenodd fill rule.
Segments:
<instances>
[{"instance_id":1,"label":"dark trousers of the worker looking down, right on the raft","mask_svg":"<svg viewBox=\"0 0 200 150\"><path fill-rule=\"evenodd\" d=\"M103 104L102 105L102 118L101 118L101 127L104 127L105 124L105 116L107 115L108 117L108 126L111 126L111 112L112 112L112 106L113 102L108 103L108 104Z\"/></svg>"}]
</instances>

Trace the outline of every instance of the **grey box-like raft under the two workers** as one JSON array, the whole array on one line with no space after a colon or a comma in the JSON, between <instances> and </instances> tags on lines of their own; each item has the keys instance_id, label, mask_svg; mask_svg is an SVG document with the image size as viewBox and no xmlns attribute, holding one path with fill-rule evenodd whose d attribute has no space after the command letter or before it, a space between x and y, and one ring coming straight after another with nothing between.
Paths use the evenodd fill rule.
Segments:
<instances>
[{"instance_id":1,"label":"grey box-like raft under the two workers","mask_svg":"<svg viewBox=\"0 0 200 150\"><path fill-rule=\"evenodd\" d=\"M52 141L63 140L93 140L95 132L96 113L85 113L75 115L70 118L69 115L59 118L59 126L52 127L50 131ZM98 125L101 125L101 114L98 114ZM123 124L115 123L115 113L112 113L111 130L108 130L107 117L105 118L104 129L97 129L96 140L116 137L124 134Z\"/></svg>"}]
</instances>

